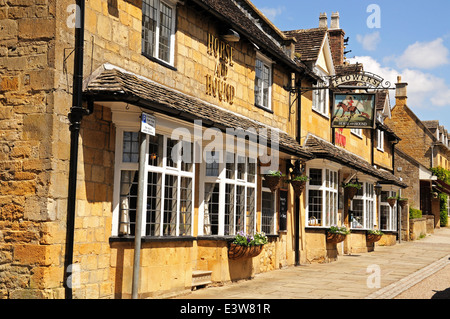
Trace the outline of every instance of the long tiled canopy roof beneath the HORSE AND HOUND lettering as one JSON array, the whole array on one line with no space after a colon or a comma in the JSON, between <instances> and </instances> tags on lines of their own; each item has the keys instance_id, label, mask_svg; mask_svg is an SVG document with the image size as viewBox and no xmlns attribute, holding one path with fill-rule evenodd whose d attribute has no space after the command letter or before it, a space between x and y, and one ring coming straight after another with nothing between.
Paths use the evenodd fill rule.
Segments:
<instances>
[{"instance_id":1,"label":"long tiled canopy roof beneath the HORSE AND HOUND lettering","mask_svg":"<svg viewBox=\"0 0 450 319\"><path fill-rule=\"evenodd\" d=\"M205 125L220 129L267 129L271 141L272 128L250 118L226 111L196 97L173 90L159 83L137 76L110 64L105 64L85 80L84 94L101 101L124 101L156 112L170 114L186 121L202 120ZM312 158L295 138L279 131L280 150L303 159Z\"/></svg>"}]
</instances>

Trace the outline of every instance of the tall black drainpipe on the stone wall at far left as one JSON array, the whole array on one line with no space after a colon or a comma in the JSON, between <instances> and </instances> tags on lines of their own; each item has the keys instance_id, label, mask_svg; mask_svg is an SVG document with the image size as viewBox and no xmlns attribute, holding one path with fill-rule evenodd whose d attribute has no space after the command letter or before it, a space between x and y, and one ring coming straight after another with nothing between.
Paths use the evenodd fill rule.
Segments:
<instances>
[{"instance_id":1,"label":"tall black drainpipe on the stone wall at far left","mask_svg":"<svg viewBox=\"0 0 450 319\"><path fill-rule=\"evenodd\" d=\"M67 229L66 250L64 259L64 288L65 298L72 299L72 275L73 275L73 245L75 232L75 203L77 189L78 169L78 138L80 135L81 120L88 115L83 108L83 46L84 46L84 8L85 0L76 0L76 25L75 25L75 49L73 70L72 107L68 118L70 121L70 163L69 163L69 187L67 196ZM92 102L91 102L92 103ZM90 103L90 108L92 104Z\"/></svg>"}]
</instances>

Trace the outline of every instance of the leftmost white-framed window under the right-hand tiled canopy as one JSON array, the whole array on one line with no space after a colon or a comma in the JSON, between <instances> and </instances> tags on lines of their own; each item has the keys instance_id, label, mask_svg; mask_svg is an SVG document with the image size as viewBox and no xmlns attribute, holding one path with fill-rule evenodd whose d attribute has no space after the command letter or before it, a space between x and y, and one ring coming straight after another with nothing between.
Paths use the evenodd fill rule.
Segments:
<instances>
[{"instance_id":1,"label":"leftmost white-framed window under the right-hand tiled canopy","mask_svg":"<svg viewBox=\"0 0 450 319\"><path fill-rule=\"evenodd\" d=\"M338 173L327 168L309 168L308 226L329 227L338 222Z\"/></svg>"}]
</instances>

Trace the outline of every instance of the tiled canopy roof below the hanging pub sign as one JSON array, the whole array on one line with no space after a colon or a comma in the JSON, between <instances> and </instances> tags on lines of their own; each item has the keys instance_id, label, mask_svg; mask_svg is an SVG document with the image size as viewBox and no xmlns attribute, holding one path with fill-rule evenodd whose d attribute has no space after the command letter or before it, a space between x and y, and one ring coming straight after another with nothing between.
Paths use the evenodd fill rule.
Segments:
<instances>
[{"instance_id":1,"label":"tiled canopy roof below the hanging pub sign","mask_svg":"<svg viewBox=\"0 0 450 319\"><path fill-rule=\"evenodd\" d=\"M314 135L308 135L305 141L305 147L317 158L326 158L330 161L338 162L344 166L361 171L364 174L379 178L386 183L395 184L400 187L408 186L393 174L387 171L376 169L375 167L370 165L369 162L360 158L359 156L352 154L347 150L339 148L331 144L330 142L327 142Z\"/></svg>"}]
</instances>

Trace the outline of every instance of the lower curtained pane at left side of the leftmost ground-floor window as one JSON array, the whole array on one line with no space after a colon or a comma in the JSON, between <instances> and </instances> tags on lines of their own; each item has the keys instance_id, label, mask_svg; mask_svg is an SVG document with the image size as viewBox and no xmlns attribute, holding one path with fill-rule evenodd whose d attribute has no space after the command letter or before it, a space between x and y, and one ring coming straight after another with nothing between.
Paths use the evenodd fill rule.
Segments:
<instances>
[{"instance_id":1,"label":"lower curtained pane at left side of the leftmost ground-floor window","mask_svg":"<svg viewBox=\"0 0 450 319\"><path fill-rule=\"evenodd\" d=\"M138 174L137 171L120 172L119 234L133 235L136 224Z\"/></svg>"}]
</instances>

